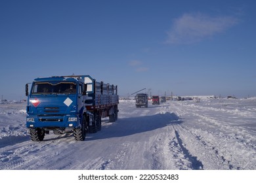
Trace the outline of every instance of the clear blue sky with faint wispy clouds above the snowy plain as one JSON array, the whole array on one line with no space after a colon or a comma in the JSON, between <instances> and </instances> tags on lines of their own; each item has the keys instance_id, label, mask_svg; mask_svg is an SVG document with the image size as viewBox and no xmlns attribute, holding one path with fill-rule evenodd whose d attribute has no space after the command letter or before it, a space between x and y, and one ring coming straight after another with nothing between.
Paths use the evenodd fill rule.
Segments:
<instances>
[{"instance_id":1,"label":"clear blue sky with faint wispy clouds above the snowy plain","mask_svg":"<svg viewBox=\"0 0 256 183\"><path fill-rule=\"evenodd\" d=\"M0 95L91 75L127 96L256 96L256 1L0 1Z\"/></svg>"}]
</instances>

